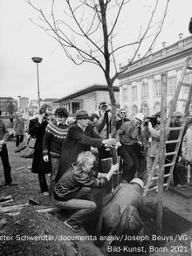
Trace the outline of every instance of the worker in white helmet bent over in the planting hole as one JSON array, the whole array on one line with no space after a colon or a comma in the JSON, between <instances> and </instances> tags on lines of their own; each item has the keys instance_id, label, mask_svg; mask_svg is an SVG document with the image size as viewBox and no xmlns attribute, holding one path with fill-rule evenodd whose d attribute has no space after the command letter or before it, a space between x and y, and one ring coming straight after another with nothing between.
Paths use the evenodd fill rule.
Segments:
<instances>
[{"instance_id":1,"label":"worker in white helmet bent over in the planting hole","mask_svg":"<svg viewBox=\"0 0 192 256\"><path fill-rule=\"evenodd\" d=\"M143 227L140 213L144 208L142 190L144 183L134 178L130 183L120 183L104 199L104 206L99 216L98 232L102 235L122 232L139 232Z\"/></svg>"}]
</instances>

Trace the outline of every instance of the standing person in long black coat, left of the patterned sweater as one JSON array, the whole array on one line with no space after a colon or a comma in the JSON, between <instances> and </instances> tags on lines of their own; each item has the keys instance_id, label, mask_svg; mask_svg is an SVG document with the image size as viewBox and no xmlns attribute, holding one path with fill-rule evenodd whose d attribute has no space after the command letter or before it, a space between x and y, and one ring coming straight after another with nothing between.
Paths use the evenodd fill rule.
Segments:
<instances>
[{"instance_id":1,"label":"standing person in long black coat, left of the patterned sweater","mask_svg":"<svg viewBox=\"0 0 192 256\"><path fill-rule=\"evenodd\" d=\"M48 116L51 113L50 110L51 107L46 104L41 106L38 117L31 119L29 125L29 134L37 139L31 171L38 173L40 189L44 196L49 196L45 174L51 172L51 163L45 162L43 159L43 137L48 124Z\"/></svg>"}]
</instances>

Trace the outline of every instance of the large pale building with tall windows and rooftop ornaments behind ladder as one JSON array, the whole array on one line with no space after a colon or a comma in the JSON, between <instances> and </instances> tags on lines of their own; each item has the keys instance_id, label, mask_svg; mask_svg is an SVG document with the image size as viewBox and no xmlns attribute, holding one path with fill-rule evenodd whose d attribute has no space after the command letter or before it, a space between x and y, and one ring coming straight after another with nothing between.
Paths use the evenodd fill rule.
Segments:
<instances>
[{"instance_id":1,"label":"large pale building with tall windows and rooftop ornaments behind ladder","mask_svg":"<svg viewBox=\"0 0 192 256\"><path fill-rule=\"evenodd\" d=\"M144 59L133 62L119 77L120 107L127 108L128 116L137 112L152 115L161 110L161 73L167 73L167 106L171 107L175 88L187 57L192 56L192 37L180 39L174 45L150 53ZM192 65L192 64L191 64ZM192 71L188 71L184 82L192 83ZM186 99L189 87L182 87L179 98ZM178 101L176 111L183 113L185 104Z\"/></svg>"}]
</instances>

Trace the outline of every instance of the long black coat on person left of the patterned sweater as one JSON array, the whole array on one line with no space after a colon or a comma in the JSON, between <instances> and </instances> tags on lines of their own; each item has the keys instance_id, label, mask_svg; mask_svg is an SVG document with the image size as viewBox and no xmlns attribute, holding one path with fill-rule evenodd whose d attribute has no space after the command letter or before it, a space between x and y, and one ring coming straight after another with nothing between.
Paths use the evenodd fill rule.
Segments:
<instances>
[{"instance_id":1,"label":"long black coat on person left of the patterned sweater","mask_svg":"<svg viewBox=\"0 0 192 256\"><path fill-rule=\"evenodd\" d=\"M38 118L31 119L30 121L29 134L32 137L37 138L35 143L35 152L34 152L34 157L32 161L32 168L31 168L31 171L33 173L51 172L51 163L50 162L46 163L43 159L43 137L45 134L45 128L47 124L48 124L47 121L43 121L42 123L39 123Z\"/></svg>"}]
</instances>

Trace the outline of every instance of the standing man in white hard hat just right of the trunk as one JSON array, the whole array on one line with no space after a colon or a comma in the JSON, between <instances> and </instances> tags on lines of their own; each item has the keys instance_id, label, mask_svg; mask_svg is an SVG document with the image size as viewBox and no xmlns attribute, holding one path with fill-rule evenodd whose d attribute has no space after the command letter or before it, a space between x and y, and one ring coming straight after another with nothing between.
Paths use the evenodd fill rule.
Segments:
<instances>
[{"instance_id":1,"label":"standing man in white hard hat just right of the trunk","mask_svg":"<svg viewBox=\"0 0 192 256\"><path fill-rule=\"evenodd\" d=\"M120 156L123 158L121 180L127 182L134 178L135 173L140 168L141 145L138 142L143 120L144 114L135 114L134 120L124 122L116 134Z\"/></svg>"}]
</instances>

